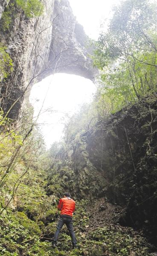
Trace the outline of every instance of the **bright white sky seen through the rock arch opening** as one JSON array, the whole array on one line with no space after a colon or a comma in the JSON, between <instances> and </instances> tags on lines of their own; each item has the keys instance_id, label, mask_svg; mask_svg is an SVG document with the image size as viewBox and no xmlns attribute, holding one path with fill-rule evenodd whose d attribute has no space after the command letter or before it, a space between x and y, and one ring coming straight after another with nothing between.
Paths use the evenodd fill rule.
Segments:
<instances>
[{"instance_id":1,"label":"bright white sky seen through the rock arch opening","mask_svg":"<svg viewBox=\"0 0 157 256\"><path fill-rule=\"evenodd\" d=\"M42 108L38 124L47 148L61 139L66 115L71 116L84 102L90 102L95 91L96 87L89 79L60 73L48 76L32 87L29 100L35 117Z\"/></svg>"}]
</instances>

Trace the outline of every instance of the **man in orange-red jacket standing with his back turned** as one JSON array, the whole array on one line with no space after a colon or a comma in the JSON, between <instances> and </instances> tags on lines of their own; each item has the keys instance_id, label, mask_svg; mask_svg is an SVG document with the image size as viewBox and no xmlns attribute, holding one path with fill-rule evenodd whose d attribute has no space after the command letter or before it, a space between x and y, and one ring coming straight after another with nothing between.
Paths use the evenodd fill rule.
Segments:
<instances>
[{"instance_id":1,"label":"man in orange-red jacket standing with his back turned","mask_svg":"<svg viewBox=\"0 0 157 256\"><path fill-rule=\"evenodd\" d=\"M61 198L59 200L58 204L58 210L61 211L60 219L58 221L57 230L54 235L54 239L52 241L52 247L56 247L57 239L59 236L59 233L61 232L61 228L64 224L67 225L67 229L69 230L73 248L76 247L76 237L73 230L73 212L75 211L75 201L70 198L69 193L64 193L64 198Z\"/></svg>"}]
</instances>

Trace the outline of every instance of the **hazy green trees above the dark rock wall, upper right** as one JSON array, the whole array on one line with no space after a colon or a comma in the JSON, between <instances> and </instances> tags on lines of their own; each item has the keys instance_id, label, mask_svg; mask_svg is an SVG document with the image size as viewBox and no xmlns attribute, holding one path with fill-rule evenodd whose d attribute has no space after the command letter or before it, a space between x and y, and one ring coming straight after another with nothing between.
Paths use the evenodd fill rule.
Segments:
<instances>
[{"instance_id":1,"label":"hazy green trees above the dark rock wall, upper right","mask_svg":"<svg viewBox=\"0 0 157 256\"><path fill-rule=\"evenodd\" d=\"M101 91L112 112L156 90L156 4L123 1L113 9L107 32L96 43Z\"/></svg>"}]
</instances>

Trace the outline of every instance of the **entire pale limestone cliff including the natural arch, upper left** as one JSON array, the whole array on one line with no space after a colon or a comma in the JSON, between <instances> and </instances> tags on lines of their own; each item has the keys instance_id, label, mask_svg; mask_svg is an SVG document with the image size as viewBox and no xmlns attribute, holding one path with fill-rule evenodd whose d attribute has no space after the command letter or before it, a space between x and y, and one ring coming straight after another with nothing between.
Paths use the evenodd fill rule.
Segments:
<instances>
[{"instance_id":1,"label":"entire pale limestone cliff including the natural arch, upper left","mask_svg":"<svg viewBox=\"0 0 157 256\"><path fill-rule=\"evenodd\" d=\"M96 70L86 49L88 37L77 23L67 0L44 0L44 14L28 19L14 0L14 14L9 29L3 31L0 21L0 41L7 46L14 72L0 85L1 107L7 111L17 100L9 116L17 118L26 87L53 73L71 73L93 79ZM6 0L0 3L0 14L5 11Z\"/></svg>"}]
</instances>

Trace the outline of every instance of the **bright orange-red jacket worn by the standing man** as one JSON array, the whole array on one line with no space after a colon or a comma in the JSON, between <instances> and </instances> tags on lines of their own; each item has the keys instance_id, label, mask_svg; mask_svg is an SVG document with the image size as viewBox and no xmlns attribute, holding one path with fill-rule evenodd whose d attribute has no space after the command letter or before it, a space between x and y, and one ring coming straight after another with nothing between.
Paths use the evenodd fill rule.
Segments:
<instances>
[{"instance_id":1,"label":"bright orange-red jacket worn by the standing man","mask_svg":"<svg viewBox=\"0 0 157 256\"><path fill-rule=\"evenodd\" d=\"M58 210L61 211L61 215L70 215L73 216L75 211L75 201L71 198L61 198L58 204Z\"/></svg>"}]
</instances>

